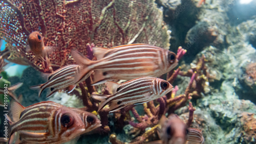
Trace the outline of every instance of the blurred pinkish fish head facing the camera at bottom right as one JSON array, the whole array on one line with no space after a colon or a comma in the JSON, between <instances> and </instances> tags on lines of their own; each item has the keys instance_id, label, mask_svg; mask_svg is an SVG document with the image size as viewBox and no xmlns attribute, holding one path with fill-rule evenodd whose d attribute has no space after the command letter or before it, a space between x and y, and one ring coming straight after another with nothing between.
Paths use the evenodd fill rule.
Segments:
<instances>
[{"instance_id":1,"label":"blurred pinkish fish head facing the camera at bottom right","mask_svg":"<svg viewBox=\"0 0 256 144\"><path fill-rule=\"evenodd\" d=\"M162 126L161 140L166 144L183 144L186 136L187 125L176 114L171 114Z\"/></svg>"}]
</instances>

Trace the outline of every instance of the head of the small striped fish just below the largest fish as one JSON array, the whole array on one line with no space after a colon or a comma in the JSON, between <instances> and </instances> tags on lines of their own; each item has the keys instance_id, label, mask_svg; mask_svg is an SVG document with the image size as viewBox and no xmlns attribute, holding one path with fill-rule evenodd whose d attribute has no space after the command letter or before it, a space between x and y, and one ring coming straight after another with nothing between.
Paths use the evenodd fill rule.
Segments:
<instances>
[{"instance_id":1,"label":"head of the small striped fish just below the largest fish","mask_svg":"<svg viewBox=\"0 0 256 144\"><path fill-rule=\"evenodd\" d=\"M153 88L156 88L153 92L158 97L164 96L173 90L173 86L168 81L163 79L156 78L154 84L155 86L153 86Z\"/></svg>"}]
</instances>

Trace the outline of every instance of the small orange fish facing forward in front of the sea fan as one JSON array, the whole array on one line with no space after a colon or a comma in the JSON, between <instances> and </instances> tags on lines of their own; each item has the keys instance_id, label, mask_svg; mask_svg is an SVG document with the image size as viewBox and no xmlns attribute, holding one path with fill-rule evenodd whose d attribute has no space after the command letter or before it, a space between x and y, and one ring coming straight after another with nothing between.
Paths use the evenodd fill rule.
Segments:
<instances>
[{"instance_id":1,"label":"small orange fish facing forward in front of the sea fan","mask_svg":"<svg viewBox=\"0 0 256 144\"><path fill-rule=\"evenodd\" d=\"M34 62L37 61L38 58L40 58L43 61L44 67L44 62L46 62L47 64L46 67L49 67L50 61L47 57L47 53L51 52L57 47L45 46L44 37L42 37L42 35L38 31L34 31L28 36L28 44L29 46L27 46L27 50L31 50L35 54Z\"/></svg>"}]
</instances>

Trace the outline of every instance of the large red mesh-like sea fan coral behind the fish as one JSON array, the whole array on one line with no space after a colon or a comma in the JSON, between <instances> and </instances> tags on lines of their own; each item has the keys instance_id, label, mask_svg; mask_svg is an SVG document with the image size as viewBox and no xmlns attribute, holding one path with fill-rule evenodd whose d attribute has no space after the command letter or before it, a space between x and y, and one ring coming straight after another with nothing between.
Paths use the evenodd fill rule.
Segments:
<instances>
[{"instance_id":1,"label":"large red mesh-like sea fan coral behind the fish","mask_svg":"<svg viewBox=\"0 0 256 144\"><path fill-rule=\"evenodd\" d=\"M113 47L140 42L169 47L170 36L154 0L4 0L0 6L0 38L11 52L8 60L41 72L74 64L70 50L86 55L87 43ZM33 31L41 32L45 46L58 47L48 56L53 70L44 68L42 60L33 63L33 53L26 51L27 36Z\"/></svg>"}]
</instances>

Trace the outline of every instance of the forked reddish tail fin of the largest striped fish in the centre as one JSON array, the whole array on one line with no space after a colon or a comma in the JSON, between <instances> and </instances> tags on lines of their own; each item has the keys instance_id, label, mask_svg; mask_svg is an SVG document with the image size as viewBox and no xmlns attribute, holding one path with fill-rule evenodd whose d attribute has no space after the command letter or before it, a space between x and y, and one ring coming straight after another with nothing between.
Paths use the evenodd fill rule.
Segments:
<instances>
[{"instance_id":1,"label":"forked reddish tail fin of the largest striped fish in the centre","mask_svg":"<svg viewBox=\"0 0 256 144\"><path fill-rule=\"evenodd\" d=\"M92 61L86 57L84 57L77 50L71 50L71 55L74 60L80 65L79 72L74 76L75 82L79 83L82 80L87 79L90 76L91 70L88 69L88 66L92 63Z\"/></svg>"}]
</instances>

